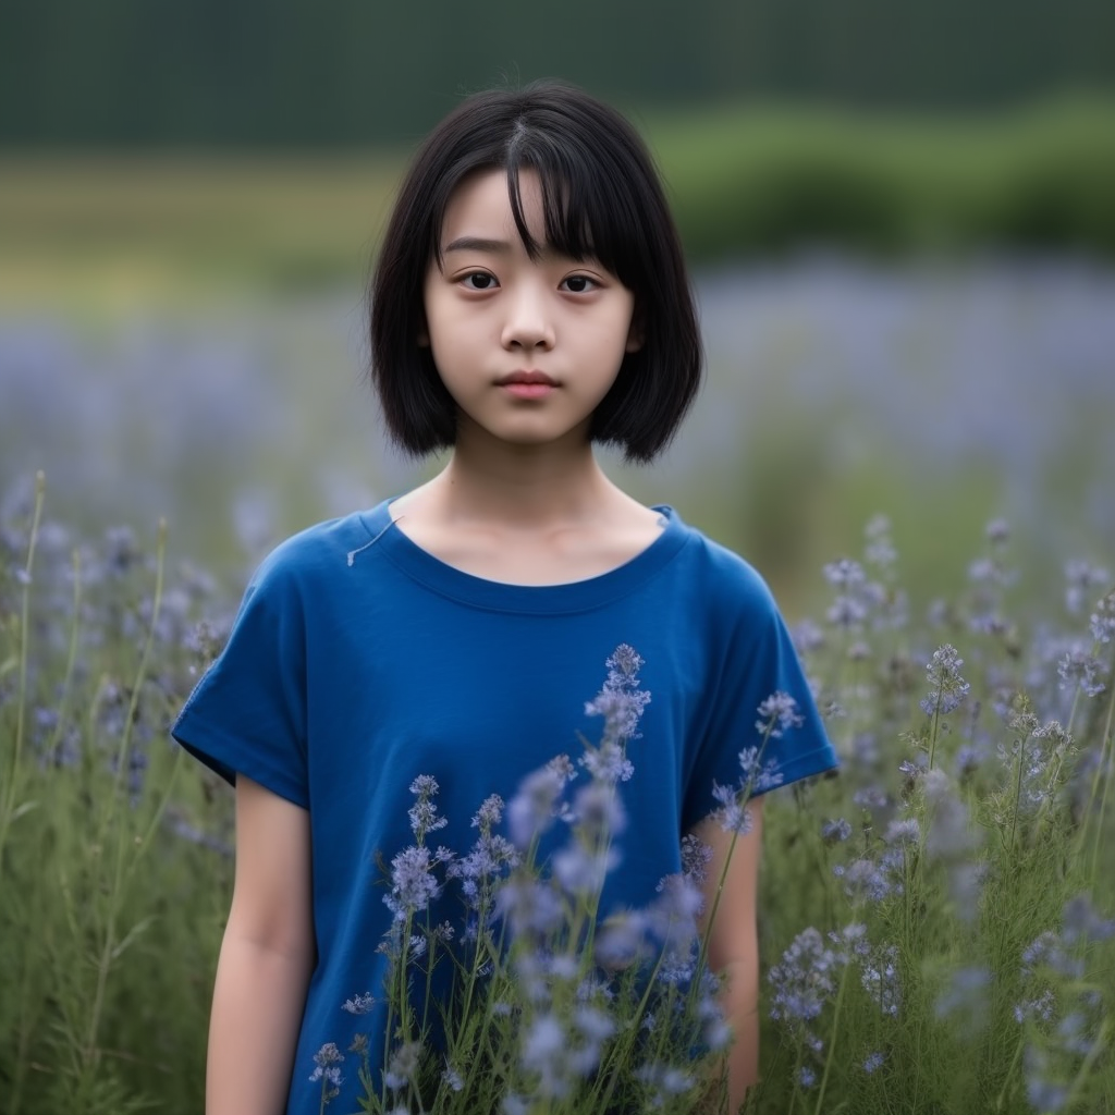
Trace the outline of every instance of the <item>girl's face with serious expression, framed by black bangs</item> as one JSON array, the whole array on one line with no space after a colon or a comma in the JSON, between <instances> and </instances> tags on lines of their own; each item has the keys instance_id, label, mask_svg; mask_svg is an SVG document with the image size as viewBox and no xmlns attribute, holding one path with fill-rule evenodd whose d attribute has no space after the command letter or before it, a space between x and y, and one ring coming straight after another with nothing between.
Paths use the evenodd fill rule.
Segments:
<instances>
[{"instance_id":1,"label":"girl's face with serious expression, framed by black bangs","mask_svg":"<svg viewBox=\"0 0 1115 1115\"><path fill-rule=\"evenodd\" d=\"M537 175L520 175L523 214L544 244ZM477 436L518 445L588 444L593 410L639 347L634 295L594 260L526 253L503 169L466 177L426 274L429 345L460 415L458 449Z\"/></svg>"}]
</instances>

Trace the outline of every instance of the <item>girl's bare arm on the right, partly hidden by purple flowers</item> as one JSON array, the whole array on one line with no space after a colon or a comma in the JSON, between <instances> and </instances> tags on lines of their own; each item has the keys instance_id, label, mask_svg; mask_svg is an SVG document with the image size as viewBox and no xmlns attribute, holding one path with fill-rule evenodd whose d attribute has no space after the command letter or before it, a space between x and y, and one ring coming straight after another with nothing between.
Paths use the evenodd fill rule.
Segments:
<instances>
[{"instance_id":1,"label":"girl's bare arm on the right, partly hidden by purple flowers","mask_svg":"<svg viewBox=\"0 0 1115 1115\"><path fill-rule=\"evenodd\" d=\"M747 1089L758 1079L759 1064L756 895L763 845L763 799L753 798L747 808L752 816L752 831L736 840L708 951L709 969L727 976L721 1006L735 1035L728 1051L729 1112L738 1111ZM731 847L731 833L726 833L714 817L708 817L697 826L696 835L712 850L704 886L705 918L708 918L716 903L717 886ZM702 921L702 932L705 924Z\"/></svg>"}]
</instances>

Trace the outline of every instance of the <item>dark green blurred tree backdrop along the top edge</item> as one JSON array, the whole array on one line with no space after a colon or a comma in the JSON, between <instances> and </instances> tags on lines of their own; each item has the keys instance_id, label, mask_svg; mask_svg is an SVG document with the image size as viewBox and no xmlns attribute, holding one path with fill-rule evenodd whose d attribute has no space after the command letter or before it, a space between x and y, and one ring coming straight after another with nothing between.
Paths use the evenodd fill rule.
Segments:
<instances>
[{"instance_id":1,"label":"dark green blurred tree backdrop along the top edge","mask_svg":"<svg viewBox=\"0 0 1115 1115\"><path fill-rule=\"evenodd\" d=\"M997 107L1115 89L1111 0L8 0L0 146L408 144L561 76L628 109Z\"/></svg>"}]
</instances>

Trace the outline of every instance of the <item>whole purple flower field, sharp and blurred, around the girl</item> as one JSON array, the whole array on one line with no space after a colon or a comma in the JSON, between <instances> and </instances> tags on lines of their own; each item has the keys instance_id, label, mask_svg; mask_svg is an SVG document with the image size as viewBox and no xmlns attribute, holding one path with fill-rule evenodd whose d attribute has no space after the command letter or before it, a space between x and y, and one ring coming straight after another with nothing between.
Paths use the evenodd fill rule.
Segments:
<instances>
[{"instance_id":1,"label":"whole purple flower field, sharp and blurred, around the girl","mask_svg":"<svg viewBox=\"0 0 1115 1115\"><path fill-rule=\"evenodd\" d=\"M1115 1111L1115 280L818 260L701 301L708 391L623 475L772 581L842 758L766 805L749 1109ZM202 1107L231 795L167 728L260 553L418 475L360 331L357 295L0 323L9 1115Z\"/></svg>"}]
</instances>

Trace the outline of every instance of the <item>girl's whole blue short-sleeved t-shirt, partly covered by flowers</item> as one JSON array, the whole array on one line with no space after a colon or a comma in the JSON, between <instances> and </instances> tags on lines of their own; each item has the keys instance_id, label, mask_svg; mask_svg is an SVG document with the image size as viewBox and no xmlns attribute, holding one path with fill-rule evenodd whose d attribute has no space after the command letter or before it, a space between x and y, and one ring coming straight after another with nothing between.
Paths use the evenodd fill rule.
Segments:
<instances>
[{"instance_id":1,"label":"girl's whole blue short-sleeved t-shirt, partly covered by flowers","mask_svg":"<svg viewBox=\"0 0 1115 1115\"><path fill-rule=\"evenodd\" d=\"M311 1083L326 1043L356 1034L384 1047L385 1017L346 1001L381 999L391 923L380 865L414 843L408 787L437 779L448 825L430 841L458 853L476 838L486 797L510 801L554 757L574 760L581 733L599 740L585 704L605 661L627 644L649 692L634 767L620 784L628 825L622 866L601 914L642 908L681 870L680 837L717 807L714 783L740 778L739 755L759 743L757 708L775 692L804 723L764 753L773 784L836 765L785 624L740 558L658 508L662 533L611 572L526 586L456 570L416 545L388 504L313 526L260 566L223 653L174 725L190 752L230 780L236 772L310 811L314 968L288 1111L318 1111ZM766 763L764 764L766 766ZM575 785L575 784L574 784ZM447 888L435 921L463 923ZM377 1011L380 1011L377 1016ZM356 1058L341 1065L333 1109L355 1108Z\"/></svg>"}]
</instances>

